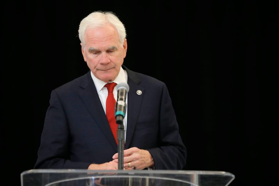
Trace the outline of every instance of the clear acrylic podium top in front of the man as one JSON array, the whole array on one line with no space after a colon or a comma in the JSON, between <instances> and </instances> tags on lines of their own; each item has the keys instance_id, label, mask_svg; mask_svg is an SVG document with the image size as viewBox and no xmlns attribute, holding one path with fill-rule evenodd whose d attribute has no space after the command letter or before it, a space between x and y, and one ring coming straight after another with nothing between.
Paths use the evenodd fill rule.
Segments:
<instances>
[{"instance_id":1,"label":"clear acrylic podium top in front of the man","mask_svg":"<svg viewBox=\"0 0 279 186\"><path fill-rule=\"evenodd\" d=\"M22 186L226 186L235 176L222 171L33 169Z\"/></svg>"}]
</instances>

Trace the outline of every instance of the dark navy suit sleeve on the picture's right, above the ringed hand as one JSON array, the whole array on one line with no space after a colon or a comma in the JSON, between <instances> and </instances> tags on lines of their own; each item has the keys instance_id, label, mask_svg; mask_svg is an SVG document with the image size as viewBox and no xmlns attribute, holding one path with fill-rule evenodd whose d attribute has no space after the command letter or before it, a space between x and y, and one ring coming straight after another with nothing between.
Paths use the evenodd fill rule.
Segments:
<instances>
[{"instance_id":1,"label":"dark navy suit sleeve on the picture's right, above the ringed hand","mask_svg":"<svg viewBox=\"0 0 279 186\"><path fill-rule=\"evenodd\" d=\"M176 116L165 84L161 96L158 141L158 148L148 149L153 157L155 169L181 170L186 164L186 148L178 132Z\"/></svg>"}]
</instances>

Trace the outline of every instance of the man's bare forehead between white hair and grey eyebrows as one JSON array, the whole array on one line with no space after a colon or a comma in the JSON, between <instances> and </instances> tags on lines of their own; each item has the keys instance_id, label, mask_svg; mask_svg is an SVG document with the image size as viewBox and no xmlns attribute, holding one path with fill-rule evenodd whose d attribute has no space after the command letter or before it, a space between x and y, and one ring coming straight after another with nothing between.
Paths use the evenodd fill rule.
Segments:
<instances>
[{"instance_id":1,"label":"man's bare forehead between white hair and grey eyebrows","mask_svg":"<svg viewBox=\"0 0 279 186\"><path fill-rule=\"evenodd\" d=\"M119 34L114 26L106 25L91 28L85 32L85 43L87 46L117 44Z\"/></svg>"}]
</instances>

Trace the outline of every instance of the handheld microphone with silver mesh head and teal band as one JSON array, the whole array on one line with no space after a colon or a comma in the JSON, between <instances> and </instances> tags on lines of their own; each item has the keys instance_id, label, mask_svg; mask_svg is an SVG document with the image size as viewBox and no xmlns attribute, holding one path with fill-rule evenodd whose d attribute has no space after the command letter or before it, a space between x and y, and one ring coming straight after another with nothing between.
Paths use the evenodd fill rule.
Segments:
<instances>
[{"instance_id":1,"label":"handheld microphone with silver mesh head and teal band","mask_svg":"<svg viewBox=\"0 0 279 186\"><path fill-rule=\"evenodd\" d=\"M122 124L126 114L126 97L129 92L129 85L121 82L116 85L117 101L115 103L115 120L117 124Z\"/></svg>"}]
</instances>

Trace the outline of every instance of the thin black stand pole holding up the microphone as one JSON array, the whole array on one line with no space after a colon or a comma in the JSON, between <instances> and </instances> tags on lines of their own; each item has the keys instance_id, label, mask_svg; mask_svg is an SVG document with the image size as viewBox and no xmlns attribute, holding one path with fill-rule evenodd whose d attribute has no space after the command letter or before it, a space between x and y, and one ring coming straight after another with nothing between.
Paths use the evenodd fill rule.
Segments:
<instances>
[{"instance_id":1,"label":"thin black stand pole holding up the microphone","mask_svg":"<svg viewBox=\"0 0 279 186\"><path fill-rule=\"evenodd\" d=\"M117 118L119 117L119 119ZM125 141L125 130L123 124L123 116L116 116L116 120L118 121L118 129L117 129L117 141L118 141L118 170L124 169L123 162L123 151L124 151L124 141Z\"/></svg>"}]
</instances>

